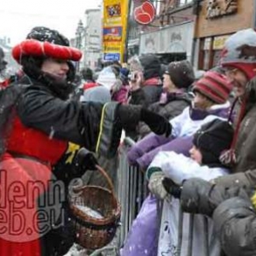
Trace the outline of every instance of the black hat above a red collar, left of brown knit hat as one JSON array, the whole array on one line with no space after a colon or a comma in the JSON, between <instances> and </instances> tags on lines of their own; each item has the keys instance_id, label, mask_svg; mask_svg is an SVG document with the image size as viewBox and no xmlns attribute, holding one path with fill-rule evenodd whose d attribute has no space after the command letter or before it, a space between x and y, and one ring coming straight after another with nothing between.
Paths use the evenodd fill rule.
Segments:
<instances>
[{"instance_id":1,"label":"black hat above a red collar, left of brown knit hat","mask_svg":"<svg viewBox=\"0 0 256 256\"><path fill-rule=\"evenodd\" d=\"M157 55L141 55L139 60L143 66L143 76L145 80L160 77L161 65Z\"/></svg>"}]
</instances>

